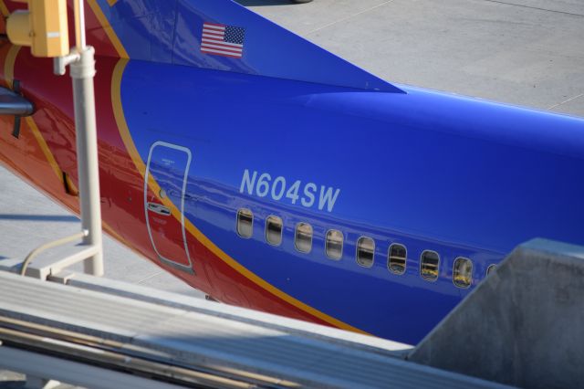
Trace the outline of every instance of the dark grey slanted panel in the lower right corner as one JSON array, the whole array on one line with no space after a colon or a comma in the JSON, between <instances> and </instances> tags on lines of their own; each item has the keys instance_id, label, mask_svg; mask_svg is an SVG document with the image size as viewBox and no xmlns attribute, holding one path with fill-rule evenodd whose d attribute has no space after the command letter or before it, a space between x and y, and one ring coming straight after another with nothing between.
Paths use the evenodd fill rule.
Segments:
<instances>
[{"instance_id":1,"label":"dark grey slanted panel in the lower right corner","mask_svg":"<svg viewBox=\"0 0 584 389\"><path fill-rule=\"evenodd\" d=\"M534 239L412 351L409 360L502 384L584 383L584 247Z\"/></svg>"}]
</instances>

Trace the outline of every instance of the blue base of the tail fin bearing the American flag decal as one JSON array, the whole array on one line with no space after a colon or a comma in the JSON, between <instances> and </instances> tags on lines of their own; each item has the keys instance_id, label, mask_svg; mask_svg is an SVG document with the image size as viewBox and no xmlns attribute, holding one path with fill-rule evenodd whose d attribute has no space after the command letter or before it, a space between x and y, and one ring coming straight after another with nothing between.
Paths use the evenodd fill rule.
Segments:
<instances>
[{"instance_id":1,"label":"blue base of the tail fin bearing the American flag decal","mask_svg":"<svg viewBox=\"0 0 584 389\"><path fill-rule=\"evenodd\" d=\"M93 1L130 59L403 93L231 0Z\"/></svg>"}]
</instances>

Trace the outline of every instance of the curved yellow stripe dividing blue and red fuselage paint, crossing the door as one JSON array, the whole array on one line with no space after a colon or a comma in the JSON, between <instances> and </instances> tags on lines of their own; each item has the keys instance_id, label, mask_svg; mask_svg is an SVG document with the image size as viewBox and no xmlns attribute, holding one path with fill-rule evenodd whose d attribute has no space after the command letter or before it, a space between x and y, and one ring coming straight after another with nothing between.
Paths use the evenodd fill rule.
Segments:
<instances>
[{"instance_id":1,"label":"curved yellow stripe dividing blue and red fuselage paint, crossing the door","mask_svg":"<svg viewBox=\"0 0 584 389\"><path fill-rule=\"evenodd\" d=\"M124 68L126 68L128 61L120 59L116 68L114 68L113 78L111 80L111 103L113 105L114 115L116 118L116 123L118 124L118 128L120 130L121 139L124 142L126 149L130 153L130 157L133 163L136 165L136 168L141 173L142 178L146 173L146 166L144 165L136 146L134 145L133 140L131 139L130 129L128 128L128 123L126 122L126 118L124 115L123 108L121 106L121 78L124 72ZM155 182L155 180L149 176L148 185L151 191L158 195L160 193L160 186ZM160 198L158 196L158 200L162 201L162 204L166 205L171 209L172 215L176 217L177 220L181 220L181 212L179 209L172 204L172 202L166 198ZM300 310L304 310L308 312L310 315L317 317L322 321L326 321L335 327L342 328L344 330L349 331L356 331L360 333L367 333L365 331L361 331L353 326L350 326L347 323L339 321L331 316L328 316L326 313L323 313L319 310L316 310L312 307L309 307L307 304L299 301L292 296L288 295L286 292L277 289L273 285L266 282L266 280L261 279L260 277L256 276L254 273L249 271L247 268L239 264L235 261L234 258L229 257L221 248L217 247L208 237L205 237L201 231L191 223L190 220L185 218L185 228L186 230L193 235L197 240L199 240L205 247L211 250L215 256L221 258L227 265L231 268L234 268L238 273L242 274L246 279L251 280L256 285L261 287L262 289L267 290L268 292L274 294L278 298L287 301L288 303L292 304L293 306L297 307Z\"/></svg>"}]
</instances>

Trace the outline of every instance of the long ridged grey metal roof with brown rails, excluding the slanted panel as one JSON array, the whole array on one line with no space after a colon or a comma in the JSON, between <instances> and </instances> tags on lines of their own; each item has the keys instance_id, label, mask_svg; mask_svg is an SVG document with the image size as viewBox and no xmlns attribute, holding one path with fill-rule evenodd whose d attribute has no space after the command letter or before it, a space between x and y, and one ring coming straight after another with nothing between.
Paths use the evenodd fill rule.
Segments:
<instances>
[{"instance_id":1,"label":"long ridged grey metal roof with brown rails, excluding the slanted panel","mask_svg":"<svg viewBox=\"0 0 584 389\"><path fill-rule=\"evenodd\" d=\"M405 344L91 276L69 286L0 271L0 294L0 366L37 382L501 387L407 363Z\"/></svg>"}]
</instances>

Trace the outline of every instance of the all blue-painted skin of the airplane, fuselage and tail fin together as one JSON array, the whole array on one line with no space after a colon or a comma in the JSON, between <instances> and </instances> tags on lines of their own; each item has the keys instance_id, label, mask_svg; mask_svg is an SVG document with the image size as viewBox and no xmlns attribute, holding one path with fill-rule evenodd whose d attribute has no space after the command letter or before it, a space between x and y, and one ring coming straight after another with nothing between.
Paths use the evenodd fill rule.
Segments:
<instances>
[{"instance_id":1,"label":"all blue-painted skin of the airplane, fuselage and tail fin together","mask_svg":"<svg viewBox=\"0 0 584 389\"><path fill-rule=\"evenodd\" d=\"M516 245L584 244L580 118L393 85L229 0L95 4L129 57L121 108L164 195L242 267L328 317L413 344ZM204 23L244 28L242 58L203 53ZM251 237L237 231L242 209ZM283 221L277 246L268 216ZM312 226L308 253L298 223ZM326 255L329 230L342 233L339 259ZM139 247L144 231L122 235ZM369 267L361 237L375 244ZM392 244L407 248L404 274L388 268ZM435 280L421 274L428 250ZM454 284L456 258L472 261L468 288ZM271 311L251 293L223 300Z\"/></svg>"}]
</instances>

